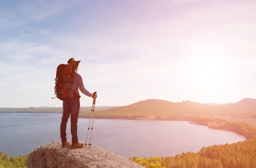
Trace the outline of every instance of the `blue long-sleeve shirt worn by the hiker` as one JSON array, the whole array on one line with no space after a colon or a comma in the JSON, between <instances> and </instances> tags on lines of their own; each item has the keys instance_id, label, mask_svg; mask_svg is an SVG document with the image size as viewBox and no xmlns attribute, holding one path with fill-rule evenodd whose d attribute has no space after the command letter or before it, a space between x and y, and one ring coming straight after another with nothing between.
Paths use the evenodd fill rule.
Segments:
<instances>
[{"instance_id":1,"label":"blue long-sleeve shirt worn by the hiker","mask_svg":"<svg viewBox=\"0 0 256 168\"><path fill-rule=\"evenodd\" d=\"M84 88L84 83L81 75L79 75L77 72L73 72L74 77L74 83L71 85L71 89L74 91L78 87L79 90L86 96L92 97L93 94L91 94L89 91ZM76 90L75 94L79 94L78 89Z\"/></svg>"}]
</instances>

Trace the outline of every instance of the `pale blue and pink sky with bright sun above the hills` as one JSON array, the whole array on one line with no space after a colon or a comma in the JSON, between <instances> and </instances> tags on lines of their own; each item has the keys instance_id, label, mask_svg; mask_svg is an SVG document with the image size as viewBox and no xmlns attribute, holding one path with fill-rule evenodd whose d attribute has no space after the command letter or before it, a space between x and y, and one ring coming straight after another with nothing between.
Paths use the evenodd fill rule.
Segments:
<instances>
[{"instance_id":1,"label":"pale blue and pink sky with bright sun above the hills","mask_svg":"<svg viewBox=\"0 0 256 168\"><path fill-rule=\"evenodd\" d=\"M71 57L96 106L256 98L255 9L255 0L1 0L0 107L61 107L56 68Z\"/></svg>"}]
</instances>

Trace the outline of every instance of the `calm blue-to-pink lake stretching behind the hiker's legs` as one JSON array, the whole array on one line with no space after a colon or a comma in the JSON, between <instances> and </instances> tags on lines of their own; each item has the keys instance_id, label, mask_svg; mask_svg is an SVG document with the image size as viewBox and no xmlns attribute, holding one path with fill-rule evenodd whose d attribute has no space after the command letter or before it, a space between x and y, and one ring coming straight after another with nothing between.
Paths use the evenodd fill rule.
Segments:
<instances>
[{"instance_id":1,"label":"calm blue-to-pink lake stretching behind the hiker's legs","mask_svg":"<svg viewBox=\"0 0 256 168\"><path fill-rule=\"evenodd\" d=\"M62 114L0 113L0 151L10 157L29 154L39 145L60 140ZM79 118L85 142L90 119ZM70 119L67 139L71 140ZM123 157L167 157L202 147L244 141L244 136L187 121L94 119L91 143ZM90 132L87 143L90 142Z\"/></svg>"}]
</instances>

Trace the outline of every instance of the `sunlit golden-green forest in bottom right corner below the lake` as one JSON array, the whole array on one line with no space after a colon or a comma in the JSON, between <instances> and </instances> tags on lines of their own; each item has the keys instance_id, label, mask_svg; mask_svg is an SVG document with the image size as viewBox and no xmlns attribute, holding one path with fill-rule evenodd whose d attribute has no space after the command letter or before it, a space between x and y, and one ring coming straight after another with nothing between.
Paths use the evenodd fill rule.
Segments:
<instances>
[{"instance_id":1,"label":"sunlit golden-green forest in bottom right corner below the lake","mask_svg":"<svg viewBox=\"0 0 256 168\"><path fill-rule=\"evenodd\" d=\"M129 159L146 168L256 168L256 137L233 144L203 147L198 153Z\"/></svg>"}]
</instances>

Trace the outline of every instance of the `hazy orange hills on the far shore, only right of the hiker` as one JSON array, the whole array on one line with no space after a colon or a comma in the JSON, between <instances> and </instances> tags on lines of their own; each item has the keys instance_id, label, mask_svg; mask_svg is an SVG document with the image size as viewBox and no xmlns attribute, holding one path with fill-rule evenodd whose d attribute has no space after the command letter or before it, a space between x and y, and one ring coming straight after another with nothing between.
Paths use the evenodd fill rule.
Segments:
<instances>
[{"instance_id":1,"label":"hazy orange hills on the far shore, only right of the hiker","mask_svg":"<svg viewBox=\"0 0 256 168\"><path fill-rule=\"evenodd\" d=\"M189 100L173 103L167 100L148 99L131 105L95 111L97 117L120 118L132 116L180 116L180 115L256 115L256 99L246 98L237 103L207 105ZM80 114L87 117L90 113Z\"/></svg>"}]
</instances>

